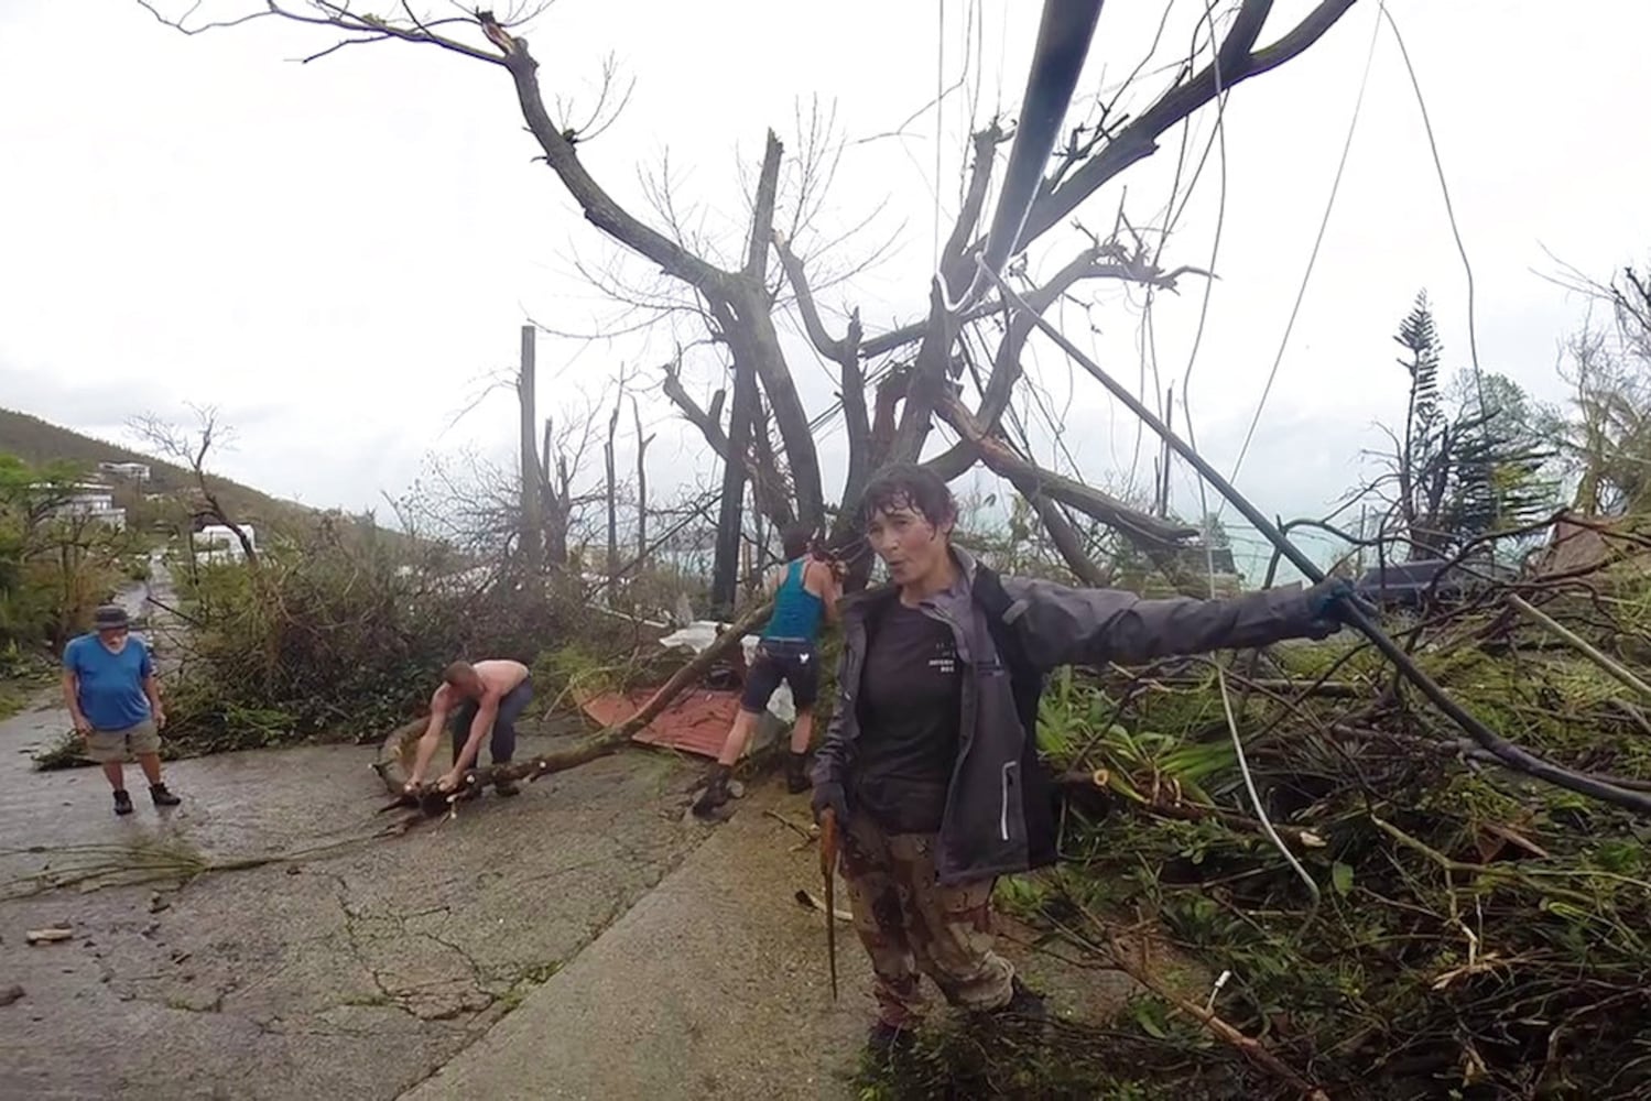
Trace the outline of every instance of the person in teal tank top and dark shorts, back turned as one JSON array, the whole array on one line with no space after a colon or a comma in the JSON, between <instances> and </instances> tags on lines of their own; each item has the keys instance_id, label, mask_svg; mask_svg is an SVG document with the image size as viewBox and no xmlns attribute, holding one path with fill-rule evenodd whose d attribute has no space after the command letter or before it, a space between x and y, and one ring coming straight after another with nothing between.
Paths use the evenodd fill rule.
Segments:
<instances>
[{"instance_id":1,"label":"person in teal tank top and dark shorts, back turned","mask_svg":"<svg viewBox=\"0 0 1651 1101\"><path fill-rule=\"evenodd\" d=\"M745 753L758 716L768 710L768 700L781 682L791 687L791 698L797 706L791 753L786 754L786 787L792 794L809 787L806 766L814 736L814 698L821 687L816 644L821 624L837 622L837 598L842 596L837 566L816 556L812 543L814 532L802 525L789 528L781 538L786 565L768 581L774 593L774 614L768 617L768 627L763 629L756 655L746 670L740 713L728 730L705 792L693 804L693 814L700 817L708 817L728 802L733 764Z\"/></svg>"}]
</instances>

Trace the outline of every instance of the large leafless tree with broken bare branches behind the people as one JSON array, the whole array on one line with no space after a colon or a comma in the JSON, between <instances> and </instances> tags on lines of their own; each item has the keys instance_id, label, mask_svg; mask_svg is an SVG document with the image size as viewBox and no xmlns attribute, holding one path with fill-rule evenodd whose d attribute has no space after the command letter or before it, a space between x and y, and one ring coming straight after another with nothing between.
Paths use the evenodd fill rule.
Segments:
<instances>
[{"instance_id":1,"label":"large leafless tree with broken bare branches behind the people","mask_svg":"<svg viewBox=\"0 0 1651 1101\"><path fill-rule=\"evenodd\" d=\"M1101 571L1073 523L1075 515L1118 530L1142 548L1162 548L1194 535L1192 528L1149 515L1037 462L1024 434L1017 437L1005 423L1025 378L1022 352L1032 333L1029 319L1010 315L996 295L963 312L948 307L948 302L963 299L976 279L976 258L984 246L984 226L991 221L987 198L1001 160L997 152L1012 137L1009 120L974 122L963 201L939 251L926 315L896 328L868 332L859 309L852 309L847 324L834 330L811 284L811 274L817 274L826 259L819 251L804 254L799 244L799 231L807 228L819 190L830 178L829 140L817 116L802 127L801 155L788 154L781 139L768 132L750 191L743 249L723 254L675 216L669 187L657 188L655 210L644 216L621 205L591 173L580 145L611 122L611 117L603 117L611 114L611 97L604 91L589 119L570 117L555 94L546 101L542 69L527 36L530 23L535 31L551 33L553 17L542 8L505 15L451 13L454 8L426 18L404 3L383 3L373 10L371 5L330 0L267 0L238 12L236 0L216 5L178 2L175 10L162 0L137 2L185 33L256 20L309 25L320 36L309 59L350 45L400 41L436 46L457 59L502 69L545 163L584 218L622 249L654 266L674 287L679 304L697 314L703 345L723 357L731 373L731 398L723 401L718 391L710 408L697 403L682 385L680 363L674 361L664 380L664 393L725 465L725 525L730 510L738 523L738 502L750 484L756 507L776 523L797 518L824 528L835 502L835 530L842 535L873 470L890 462L926 461L946 479L984 464L1009 480L1035 508L1068 566L1088 583L1098 583ZM1218 12L1210 5L1194 5L1200 33L1185 58L1172 66L1167 86L1151 96L1144 109L1133 116L1118 109L1124 92L1141 96L1138 84L1144 86L1147 79L1141 76L1142 63L1124 89L1095 96L1086 117L1078 119L1076 109L1068 112L1067 137L1055 147L1012 256L1073 220L1103 185L1157 152L1159 140L1174 127L1242 83L1309 50L1352 3L1321 0L1298 23L1273 28L1265 45L1271 0L1237 0L1215 5ZM1172 7L1166 3L1166 20ZM1101 41L1105 35L1103 21ZM791 178L799 178L801 185L791 195L791 210L781 218L778 193L788 157L792 158ZM1025 287L1024 295L1035 310L1048 310L1086 281L1174 289L1177 279L1189 272L1207 276L1189 267L1162 267L1161 241L1147 244L1123 211L1116 218L1108 215L1108 220L1114 223L1108 233L1085 229L1088 244L1055 271L1029 271L1025 262L1012 266L1014 279ZM849 447L839 487L826 485L816 446L817 424L829 411L811 413L804 406L776 327L786 312L792 314L789 320L799 324L835 373ZM936 421L956 434L956 442L926 447Z\"/></svg>"}]
</instances>

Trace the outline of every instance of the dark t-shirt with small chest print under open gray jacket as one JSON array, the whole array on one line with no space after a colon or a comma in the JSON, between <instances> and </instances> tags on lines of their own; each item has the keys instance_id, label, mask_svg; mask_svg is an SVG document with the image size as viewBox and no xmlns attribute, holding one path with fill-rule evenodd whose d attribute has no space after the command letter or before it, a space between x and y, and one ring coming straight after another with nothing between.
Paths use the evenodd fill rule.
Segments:
<instances>
[{"instance_id":1,"label":"dark t-shirt with small chest print under open gray jacket","mask_svg":"<svg viewBox=\"0 0 1651 1101\"><path fill-rule=\"evenodd\" d=\"M865 654L857 809L893 834L939 829L958 761L963 669L944 622L893 601Z\"/></svg>"}]
</instances>

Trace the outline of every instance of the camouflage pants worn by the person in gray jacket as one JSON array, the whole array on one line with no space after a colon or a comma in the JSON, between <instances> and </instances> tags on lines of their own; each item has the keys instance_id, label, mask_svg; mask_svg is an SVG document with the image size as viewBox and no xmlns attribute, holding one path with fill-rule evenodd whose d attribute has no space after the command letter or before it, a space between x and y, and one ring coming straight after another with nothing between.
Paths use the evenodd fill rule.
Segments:
<instances>
[{"instance_id":1,"label":"camouflage pants worn by the person in gray jacket","mask_svg":"<svg viewBox=\"0 0 1651 1101\"><path fill-rule=\"evenodd\" d=\"M885 834L865 814L842 835L842 877L854 928L877 974L878 1018L923 1015L920 974L964 1009L997 1009L1014 969L992 952L992 880L941 886L933 834Z\"/></svg>"}]
</instances>

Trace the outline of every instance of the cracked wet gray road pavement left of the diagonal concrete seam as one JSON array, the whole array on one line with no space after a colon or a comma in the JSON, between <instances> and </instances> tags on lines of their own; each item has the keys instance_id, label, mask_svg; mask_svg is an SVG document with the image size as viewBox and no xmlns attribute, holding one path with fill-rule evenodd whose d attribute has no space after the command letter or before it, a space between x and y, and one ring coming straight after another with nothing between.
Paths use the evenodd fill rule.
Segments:
<instances>
[{"instance_id":1,"label":"cracked wet gray road pavement left of the diagonal concrete seam","mask_svg":"<svg viewBox=\"0 0 1651 1101\"><path fill-rule=\"evenodd\" d=\"M64 726L51 708L0 723L0 987L25 990L0 1007L5 1098L396 1098L705 837L680 820L684 766L655 754L601 759L400 837L371 837L388 815L375 815L367 746L173 763L183 806L139 797L117 819L96 771L30 769L28 749ZM163 878L185 860L324 845L182 886ZM145 881L38 890L41 875L102 865L139 865ZM25 946L53 923L73 939Z\"/></svg>"}]
</instances>

